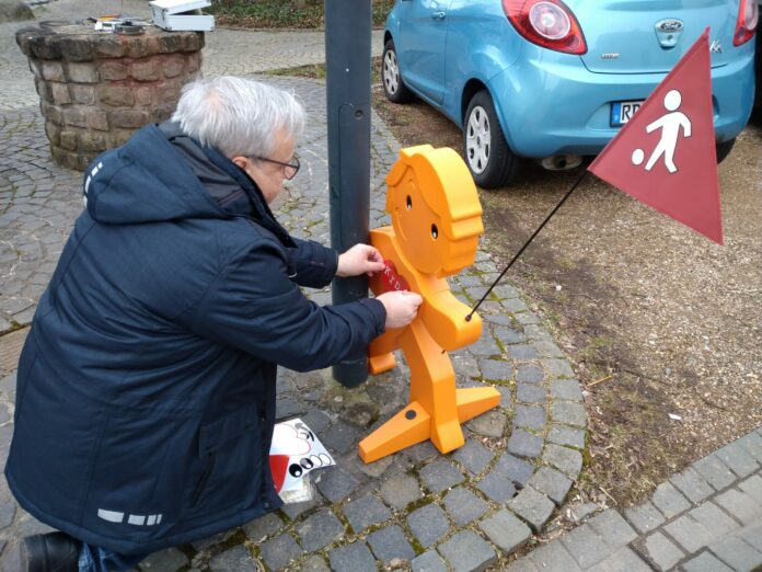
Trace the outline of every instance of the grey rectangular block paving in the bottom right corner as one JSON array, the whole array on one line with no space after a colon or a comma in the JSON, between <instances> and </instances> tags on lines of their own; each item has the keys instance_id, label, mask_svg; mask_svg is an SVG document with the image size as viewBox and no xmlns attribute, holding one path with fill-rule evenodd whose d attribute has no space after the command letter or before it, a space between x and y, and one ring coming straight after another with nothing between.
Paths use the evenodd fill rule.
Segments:
<instances>
[{"instance_id":1,"label":"grey rectangular block paving in the bottom right corner","mask_svg":"<svg viewBox=\"0 0 762 572\"><path fill-rule=\"evenodd\" d=\"M762 430L697 460L639 506L609 508L509 570L762 570Z\"/></svg>"}]
</instances>

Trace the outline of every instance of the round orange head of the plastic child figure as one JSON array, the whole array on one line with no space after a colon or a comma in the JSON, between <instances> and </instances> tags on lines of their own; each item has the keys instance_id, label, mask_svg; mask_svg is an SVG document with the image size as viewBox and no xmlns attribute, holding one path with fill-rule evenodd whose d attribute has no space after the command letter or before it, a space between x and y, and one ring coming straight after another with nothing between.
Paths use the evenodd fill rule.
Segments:
<instances>
[{"instance_id":1,"label":"round orange head of the plastic child figure","mask_svg":"<svg viewBox=\"0 0 762 572\"><path fill-rule=\"evenodd\" d=\"M386 176L386 209L405 256L438 277L474 262L482 205L460 156L430 145L409 147Z\"/></svg>"}]
</instances>

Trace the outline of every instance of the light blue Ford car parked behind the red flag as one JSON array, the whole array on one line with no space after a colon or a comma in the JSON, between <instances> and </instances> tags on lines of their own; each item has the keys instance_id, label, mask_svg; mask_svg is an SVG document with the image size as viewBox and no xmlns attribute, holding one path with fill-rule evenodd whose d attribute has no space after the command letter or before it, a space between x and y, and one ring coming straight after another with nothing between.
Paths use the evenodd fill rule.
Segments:
<instances>
[{"instance_id":1,"label":"light blue Ford car parked behind the red flag","mask_svg":"<svg viewBox=\"0 0 762 572\"><path fill-rule=\"evenodd\" d=\"M597 155L708 26L717 158L754 99L755 0L396 0L382 80L463 130L476 184Z\"/></svg>"}]
</instances>

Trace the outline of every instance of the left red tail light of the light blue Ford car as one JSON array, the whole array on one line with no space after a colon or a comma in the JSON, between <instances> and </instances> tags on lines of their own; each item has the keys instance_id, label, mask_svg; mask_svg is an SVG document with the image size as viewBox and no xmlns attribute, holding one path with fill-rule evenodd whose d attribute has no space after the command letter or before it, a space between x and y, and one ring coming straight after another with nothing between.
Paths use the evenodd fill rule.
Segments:
<instances>
[{"instance_id":1,"label":"left red tail light of the light blue Ford car","mask_svg":"<svg viewBox=\"0 0 762 572\"><path fill-rule=\"evenodd\" d=\"M579 22L561 0L503 0L503 10L532 44L566 54L587 52Z\"/></svg>"}]
</instances>

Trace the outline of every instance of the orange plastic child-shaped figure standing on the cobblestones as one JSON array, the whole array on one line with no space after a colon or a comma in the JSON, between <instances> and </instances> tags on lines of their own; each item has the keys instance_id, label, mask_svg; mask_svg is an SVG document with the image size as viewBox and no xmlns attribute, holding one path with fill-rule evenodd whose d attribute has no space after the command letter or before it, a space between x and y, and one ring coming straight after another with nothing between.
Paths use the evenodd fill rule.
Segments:
<instances>
[{"instance_id":1,"label":"orange plastic child-shaped figure standing on the cobblestones","mask_svg":"<svg viewBox=\"0 0 762 572\"><path fill-rule=\"evenodd\" d=\"M370 243L386 268L376 275L374 294L407 289L424 302L407 327L388 330L369 348L369 368L379 374L394 367L393 350L402 348L411 368L409 402L362 439L360 457L371 462L430 438L441 453L464 443L460 424L496 407L495 388L455 388L455 373L446 351L475 342L482 319L465 317L470 308L450 291L444 276L474 262L484 232L482 206L463 160L449 148L409 147L386 176L386 210L392 226L370 231Z\"/></svg>"}]
</instances>

